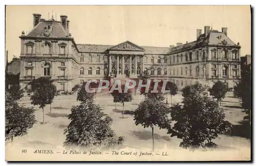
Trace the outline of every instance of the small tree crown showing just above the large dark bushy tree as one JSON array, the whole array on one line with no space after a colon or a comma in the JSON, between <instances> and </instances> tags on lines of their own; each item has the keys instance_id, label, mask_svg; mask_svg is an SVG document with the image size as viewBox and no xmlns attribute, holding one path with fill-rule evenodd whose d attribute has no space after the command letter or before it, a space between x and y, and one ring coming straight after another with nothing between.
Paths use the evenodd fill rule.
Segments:
<instances>
[{"instance_id":1,"label":"small tree crown showing just above the large dark bushy tree","mask_svg":"<svg viewBox=\"0 0 256 166\"><path fill-rule=\"evenodd\" d=\"M186 86L182 90L182 96L187 97L189 95L203 94L205 88L198 81L194 85Z\"/></svg>"}]
</instances>

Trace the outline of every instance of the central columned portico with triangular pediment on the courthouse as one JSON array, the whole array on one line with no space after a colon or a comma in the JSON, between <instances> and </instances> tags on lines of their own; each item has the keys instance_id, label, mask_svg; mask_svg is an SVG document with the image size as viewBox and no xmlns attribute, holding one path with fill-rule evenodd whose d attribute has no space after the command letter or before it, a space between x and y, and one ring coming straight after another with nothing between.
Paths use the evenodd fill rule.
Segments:
<instances>
[{"instance_id":1,"label":"central columned portico with triangular pediment on the courthouse","mask_svg":"<svg viewBox=\"0 0 256 166\"><path fill-rule=\"evenodd\" d=\"M109 48L109 76L137 78L142 73L144 51L130 41Z\"/></svg>"}]
</instances>

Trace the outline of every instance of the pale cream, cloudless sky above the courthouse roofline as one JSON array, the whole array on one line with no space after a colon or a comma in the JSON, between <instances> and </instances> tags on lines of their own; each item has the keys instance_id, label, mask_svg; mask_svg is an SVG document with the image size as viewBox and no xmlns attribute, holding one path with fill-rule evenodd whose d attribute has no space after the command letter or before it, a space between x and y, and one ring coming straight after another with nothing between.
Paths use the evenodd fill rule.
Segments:
<instances>
[{"instance_id":1,"label":"pale cream, cloudless sky above the courthouse roofline","mask_svg":"<svg viewBox=\"0 0 256 166\"><path fill-rule=\"evenodd\" d=\"M196 40L196 30L212 26L251 54L250 6L7 6L8 61L19 57L22 31L33 29L33 13L48 20L67 15L77 44L116 45L129 40L139 46L169 47ZM49 14L48 14L49 13Z\"/></svg>"}]
</instances>

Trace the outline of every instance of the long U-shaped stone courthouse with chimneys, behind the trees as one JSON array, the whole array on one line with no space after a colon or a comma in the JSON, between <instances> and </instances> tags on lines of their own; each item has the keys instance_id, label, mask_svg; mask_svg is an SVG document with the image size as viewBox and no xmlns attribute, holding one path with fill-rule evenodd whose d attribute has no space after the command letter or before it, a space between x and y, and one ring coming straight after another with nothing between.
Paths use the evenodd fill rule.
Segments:
<instances>
[{"instance_id":1,"label":"long U-shaped stone courthouse with chimneys, behind the trees","mask_svg":"<svg viewBox=\"0 0 256 166\"><path fill-rule=\"evenodd\" d=\"M22 32L20 52L20 86L30 89L38 77L54 80L58 90L71 91L90 79L136 79L143 74L151 78L174 81L179 88L201 82L212 86L221 80L233 87L240 79L240 48L222 32L204 27L197 39L177 46L148 47L130 41L117 45L76 44L69 32L68 17L49 20L33 14L33 29Z\"/></svg>"}]
</instances>

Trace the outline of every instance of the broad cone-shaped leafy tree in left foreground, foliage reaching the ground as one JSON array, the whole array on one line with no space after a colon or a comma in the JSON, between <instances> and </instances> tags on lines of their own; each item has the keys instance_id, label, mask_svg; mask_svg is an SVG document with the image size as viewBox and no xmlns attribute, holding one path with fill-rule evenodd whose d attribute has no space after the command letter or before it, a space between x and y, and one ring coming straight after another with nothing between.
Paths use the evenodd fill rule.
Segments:
<instances>
[{"instance_id":1,"label":"broad cone-shaped leafy tree in left foreground, foliage reaching the ground","mask_svg":"<svg viewBox=\"0 0 256 166\"><path fill-rule=\"evenodd\" d=\"M113 122L111 117L101 112L100 106L93 100L72 106L68 117L71 122L64 131L66 147L106 147L122 142L120 137L119 141L115 139L115 133L110 127Z\"/></svg>"}]
</instances>

